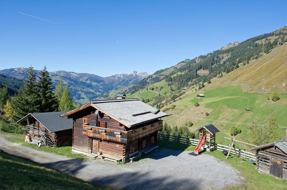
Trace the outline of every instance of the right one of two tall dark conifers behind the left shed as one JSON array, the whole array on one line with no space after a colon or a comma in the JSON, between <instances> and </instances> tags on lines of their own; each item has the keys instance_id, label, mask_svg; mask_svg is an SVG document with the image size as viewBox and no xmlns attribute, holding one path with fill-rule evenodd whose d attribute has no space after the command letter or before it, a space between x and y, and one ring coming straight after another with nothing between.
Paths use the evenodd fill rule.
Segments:
<instances>
[{"instance_id":1,"label":"right one of two tall dark conifers behind the left shed","mask_svg":"<svg viewBox=\"0 0 287 190\"><path fill-rule=\"evenodd\" d=\"M40 111L50 112L56 111L58 108L57 98L53 95L52 80L49 76L46 66L41 71L41 77L38 83L40 94Z\"/></svg>"}]
</instances>

